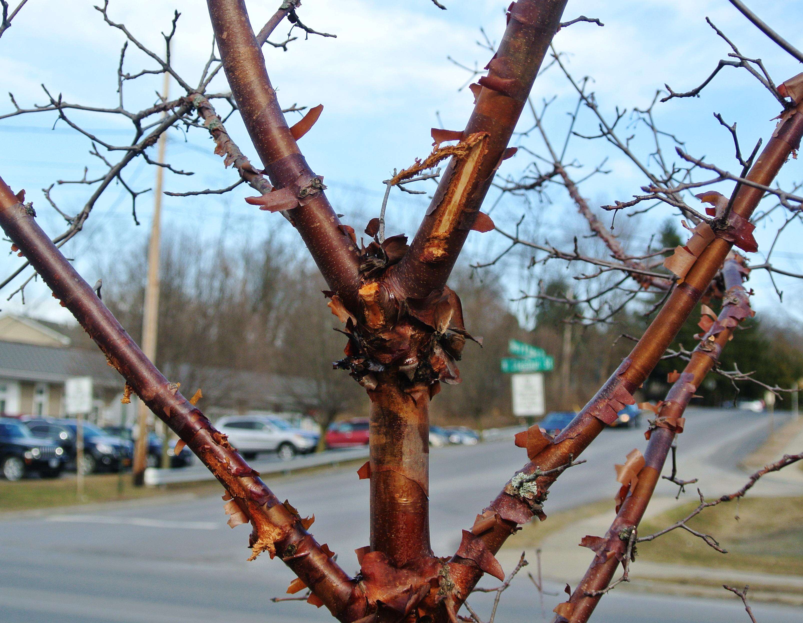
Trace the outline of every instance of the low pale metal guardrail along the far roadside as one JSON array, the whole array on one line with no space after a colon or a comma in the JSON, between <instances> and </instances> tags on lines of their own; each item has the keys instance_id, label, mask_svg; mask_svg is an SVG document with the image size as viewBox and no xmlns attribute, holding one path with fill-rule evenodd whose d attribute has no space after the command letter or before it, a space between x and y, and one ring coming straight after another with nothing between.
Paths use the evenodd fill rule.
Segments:
<instances>
[{"instance_id":1,"label":"low pale metal guardrail along the far roadside","mask_svg":"<svg viewBox=\"0 0 803 623\"><path fill-rule=\"evenodd\" d=\"M484 442L499 442L512 439L513 435L522 430L521 426L507 428L487 429L483 431ZM349 448L348 450L326 450L317 454L304 454L289 461L263 460L251 462L251 466L259 474L290 474L293 471L304 470L309 467L336 466L341 463L368 458L368 446ZM201 483L205 480L214 480L214 476L206 467L177 467L173 469L159 469L149 467L145 470L145 484L149 487L175 483Z\"/></svg>"}]
</instances>

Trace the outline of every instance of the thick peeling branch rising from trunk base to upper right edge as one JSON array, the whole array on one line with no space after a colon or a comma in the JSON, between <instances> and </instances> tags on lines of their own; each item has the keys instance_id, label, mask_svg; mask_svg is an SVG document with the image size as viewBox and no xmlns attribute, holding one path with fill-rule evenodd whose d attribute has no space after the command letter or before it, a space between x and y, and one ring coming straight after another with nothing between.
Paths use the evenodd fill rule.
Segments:
<instances>
[{"instance_id":1,"label":"thick peeling branch rising from trunk base to upper right edge","mask_svg":"<svg viewBox=\"0 0 803 623\"><path fill-rule=\"evenodd\" d=\"M779 122L764 151L752 165L747 176L749 180L760 185L770 185L789 155L800 147L803 136L803 104L798 104L793 110L796 111L795 114L787 114ZM747 221L763 194L760 189L741 185L736 190L732 213ZM505 490L491 503L489 510L495 511L497 519L491 529L480 535L491 552L498 552L520 523L532 519L533 507L543 503L558 474L539 476L526 482L528 491L521 488L525 479L532 477L536 471L552 470L565 465L570 458L577 458L605 428L604 419L608 419L609 413L615 415L612 405L623 404L622 401L627 397L632 402L632 394L646 381L666 348L675 339L703 292L707 290L711 279L728 257L732 246L733 242L719 238L719 235L711 241L688 271L683 283L672 291L641 340L638 340L638 344L616 372L605 381L605 385L569 426L560 432L554 442L514 474ZM454 556L450 563L450 573L454 582L452 592L455 604L465 601L483 575L476 565L467 564L459 556Z\"/></svg>"}]
</instances>

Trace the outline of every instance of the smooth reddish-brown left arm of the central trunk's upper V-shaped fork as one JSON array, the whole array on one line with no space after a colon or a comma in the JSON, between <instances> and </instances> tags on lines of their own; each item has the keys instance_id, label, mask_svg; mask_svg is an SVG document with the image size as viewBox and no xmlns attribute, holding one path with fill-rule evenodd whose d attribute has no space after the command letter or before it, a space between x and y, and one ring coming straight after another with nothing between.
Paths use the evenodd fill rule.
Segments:
<instances>
[{"instance_id":1,"label":"smooth reddish-brown left arm of the central trunk's upper V-shaped fork","mask_svg":"<svg viewBox=\"0 0 803 623\"><path fill-rule=\"evenodd\" d=\"M244 0L208 0L207 4L226 78L265 173L277 189L316 178L287 127ZM305 195L304 205L288 214L326 283L347 307L355 307L357 246L340 225L323 190L313 189Z\"/></svg>"}]
</instances>

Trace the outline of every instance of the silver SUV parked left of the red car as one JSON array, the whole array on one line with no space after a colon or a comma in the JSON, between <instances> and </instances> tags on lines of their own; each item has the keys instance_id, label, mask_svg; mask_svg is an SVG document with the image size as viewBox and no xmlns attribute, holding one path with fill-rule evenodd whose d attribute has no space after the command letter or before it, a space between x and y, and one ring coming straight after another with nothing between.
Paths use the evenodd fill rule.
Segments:
<instances>
[{"instance_id":1,"label":"silver SUV parked left of the red car","mask_svg":"<svg viewBox=\"0 0 803 623\"><path fill-rule=\"evenodd\" d=\"M275 452L280 459L287 461L296 454L315 450L320 437L317 433L291 426L281 417L270 415L221 417L216 426L245 458L255 458L260 452Z\"/></svg>"}]
</instances>

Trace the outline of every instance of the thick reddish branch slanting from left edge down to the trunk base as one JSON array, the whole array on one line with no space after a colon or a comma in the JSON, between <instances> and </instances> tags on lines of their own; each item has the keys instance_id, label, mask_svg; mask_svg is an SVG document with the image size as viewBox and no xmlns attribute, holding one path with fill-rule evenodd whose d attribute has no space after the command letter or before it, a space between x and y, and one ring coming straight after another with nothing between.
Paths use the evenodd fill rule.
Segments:
<instances>
[{"instance_id":1,"label":"thick reddish branch slanting from left edge down to the trunk base","mask_svg":"<svg viewBox=\"0 0 803 623\"><path fill-rule=\"evenodd\" d=\"M81 278L0 178L0 226L53 294L95 340L148 408L201 459L251 521L253 554L284 560L336 616L356 591L353 580L328 556L243 458L148 360L92 287ZM353 617L355 618L355 617ZM353 620L352 618L352 620Z\"/></svg>"}]
</instances>

